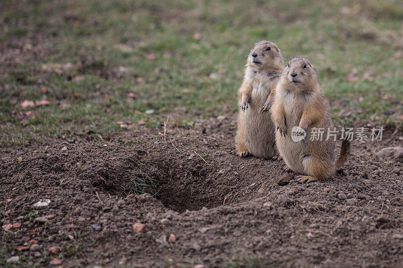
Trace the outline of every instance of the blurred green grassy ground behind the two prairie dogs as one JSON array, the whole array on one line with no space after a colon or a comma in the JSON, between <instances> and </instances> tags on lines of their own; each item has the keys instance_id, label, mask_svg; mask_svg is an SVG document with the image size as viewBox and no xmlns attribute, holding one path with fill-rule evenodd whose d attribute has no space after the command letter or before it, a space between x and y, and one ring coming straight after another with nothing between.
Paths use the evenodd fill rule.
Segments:
<instances>
[{"instance_id":1,"label":"blurred green grassy ground behind the two prairie dogs","mask_svg":"<svg viewBox=\"0 0 403 268\"><path fill-rule=\"evenodd\" d=\"M392 0L2 1L0 146L231 116L264 39L311 60L339 123L401 127L402 19Z\"/></svg>"}]
</instances>

